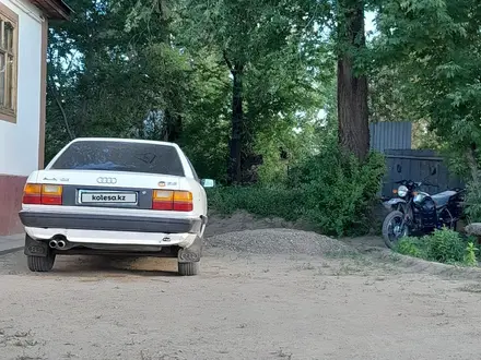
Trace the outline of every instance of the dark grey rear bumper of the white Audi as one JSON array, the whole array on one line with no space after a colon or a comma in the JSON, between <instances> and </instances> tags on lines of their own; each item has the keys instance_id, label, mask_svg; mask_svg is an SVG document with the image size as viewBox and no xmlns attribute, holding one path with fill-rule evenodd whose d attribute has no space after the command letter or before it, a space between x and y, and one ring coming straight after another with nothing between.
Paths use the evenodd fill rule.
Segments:
<instances>
[{"instance_id":1,"label":"dark grey rear bumper of the white Audi","mask_svg":"<svg viewBox=\"0 0 481 360\"><path fill-rule=\"evenodd\" d=\"M204 218L163 218L143 216L62 214L21 211L20 219L26 228L44 230L95 230L159 235L199 233ZM51 232L51 231L46 231ZM55 235L54 235L55 236ZM142 235L144 237L145 235Z\"/></svg>"}]
</instances>

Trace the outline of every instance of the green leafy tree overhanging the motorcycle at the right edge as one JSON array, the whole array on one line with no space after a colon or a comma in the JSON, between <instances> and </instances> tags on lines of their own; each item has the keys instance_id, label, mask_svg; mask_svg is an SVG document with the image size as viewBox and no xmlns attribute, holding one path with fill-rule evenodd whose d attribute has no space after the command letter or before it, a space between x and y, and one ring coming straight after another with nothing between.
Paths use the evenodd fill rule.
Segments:
<instances>
[{"instance_id":1,"label":"green leafy tree overhanging the motorcycle at the right edge","mask_svg":"<svg viewBox=\"0 0 481 360\"><path fill-rule=\"evenodd\" d=\"M481 199L481 3L388 1L379 8L377 63L402 63L413 107L448 146ZM481 213L478 209L477 217Z\"/></svg>"}]
</instances>

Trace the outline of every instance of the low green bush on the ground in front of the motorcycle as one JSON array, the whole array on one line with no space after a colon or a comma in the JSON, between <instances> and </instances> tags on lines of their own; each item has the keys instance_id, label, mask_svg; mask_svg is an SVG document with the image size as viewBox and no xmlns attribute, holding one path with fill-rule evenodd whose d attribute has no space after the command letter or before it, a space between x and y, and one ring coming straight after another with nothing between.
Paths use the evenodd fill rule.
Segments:
<instances>
[{"instance_id":1,"label":"low green bush on the ground in front of the motorcycle","mask_svg":"<svg viewBox=\"0 0 481 360\"><path fill-rule=\"evenodd\" d=\"M465 241L461 236L449 229L434 230L430 236L419 238L403 238L397 249L403 255L421 257L445 264L465 264L476 266L478 264L472 241Z\"/></svg>"}]
</instances>

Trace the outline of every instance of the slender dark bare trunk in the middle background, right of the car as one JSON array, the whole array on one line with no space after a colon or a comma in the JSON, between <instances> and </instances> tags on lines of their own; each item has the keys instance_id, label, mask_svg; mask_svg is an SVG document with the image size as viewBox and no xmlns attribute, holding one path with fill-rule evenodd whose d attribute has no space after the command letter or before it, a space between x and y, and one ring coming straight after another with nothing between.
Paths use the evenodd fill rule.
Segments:
<instances>
[{"instance_id":1,"label":"slender dark bare trunk in the middle background, right of the car","mask_svg":"<svg viewBox=\"0 0 481 360\"><path fill-rule=\"evenodd\" d=\"M241 154L243 145L243 65L234 65L232 88L232 133L230 142L230 156L227 167L227 183L242 182Z\"/></svg>"}]
</instances>

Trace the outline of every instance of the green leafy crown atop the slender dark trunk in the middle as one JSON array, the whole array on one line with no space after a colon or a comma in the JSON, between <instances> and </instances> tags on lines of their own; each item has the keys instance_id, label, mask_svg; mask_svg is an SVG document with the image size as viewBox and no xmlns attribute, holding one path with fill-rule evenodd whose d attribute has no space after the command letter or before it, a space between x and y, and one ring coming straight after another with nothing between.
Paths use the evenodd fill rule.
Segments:
<instances>
[{"instance_id":1,"label":"green leafy crown atop the slender dark trunk in the middle","mask_svg":"<svg viewBox=\"0 0 481 360\"><path fill-rule=\"evenodd\" d=\"M254 67L266 58L274 63L272 60L282 50L298 47L301 37L305 47L317 40L320 34L312 32L313 22L330 9L327 3L308 0L183 0L180 3L185 43L220 51L232 65Z\"/></svg>"}]
</instances>

